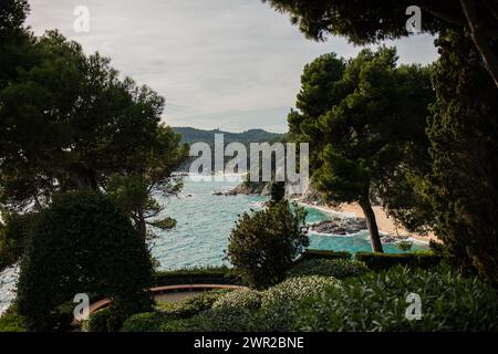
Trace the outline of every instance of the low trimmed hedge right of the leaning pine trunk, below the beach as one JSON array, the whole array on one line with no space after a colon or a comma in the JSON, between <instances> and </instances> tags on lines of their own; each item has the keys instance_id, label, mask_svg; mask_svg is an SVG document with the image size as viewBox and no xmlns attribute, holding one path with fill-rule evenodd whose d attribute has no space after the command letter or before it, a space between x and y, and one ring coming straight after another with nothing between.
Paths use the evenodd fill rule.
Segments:
<instances>
[{"instance_id":1,"label":"low trimmed hedge right of the leaning pine trunk, below the beach","mask_svg":"<svg viewBox=\"0 0 498 354\"><path fill-rule=\"evenodd\" d=\"M355 260L364 262L370 269L378 271L386 270L394 266L406 266L409 268L423 268L438 266L442 261L439 256L432 252L413 253L370 253L359 252L354 256Z\"/></svg>"}]
</instances>

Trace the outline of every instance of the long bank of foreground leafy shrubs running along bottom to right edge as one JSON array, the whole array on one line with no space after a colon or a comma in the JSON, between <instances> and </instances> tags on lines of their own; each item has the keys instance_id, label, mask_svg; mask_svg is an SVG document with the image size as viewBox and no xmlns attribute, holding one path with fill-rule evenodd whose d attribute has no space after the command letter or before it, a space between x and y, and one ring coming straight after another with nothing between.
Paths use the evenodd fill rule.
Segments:
<instances>
[{"instance_id":1,"label":"long bank of foreground leafy shrubs running along bottom to right edge","mask_svg":"<svg viewBox=\"0 0 498 354\"><path fill-rule=\"evenodd\" d=\"M421 296L419 321L405 316L408 293ZM134 330L166 332L498 331L498 296L490 285L448 269L394 267L344 281L302 277L267 291L234 291L189 319L132 319Z\"/></svg>"}]
</instances>

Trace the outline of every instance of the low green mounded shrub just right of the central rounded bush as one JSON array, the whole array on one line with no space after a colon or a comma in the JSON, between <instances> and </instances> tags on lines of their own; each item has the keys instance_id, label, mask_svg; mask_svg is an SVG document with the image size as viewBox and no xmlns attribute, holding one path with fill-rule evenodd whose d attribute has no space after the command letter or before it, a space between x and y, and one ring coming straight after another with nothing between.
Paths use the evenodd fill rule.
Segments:
<instances>
[{"instance_id":1,"label":"low green mounded shrub just right of the central rounded bush","mask_svg":"<svg viewBox=\"0 0 498 354\"><path fill-rule=\"evenodd\" d=\"M369 268L360 261L345 259L310 259L292 267L288 277L322 275L345 279L366 273Z\"/></svg>"}]
</instances>

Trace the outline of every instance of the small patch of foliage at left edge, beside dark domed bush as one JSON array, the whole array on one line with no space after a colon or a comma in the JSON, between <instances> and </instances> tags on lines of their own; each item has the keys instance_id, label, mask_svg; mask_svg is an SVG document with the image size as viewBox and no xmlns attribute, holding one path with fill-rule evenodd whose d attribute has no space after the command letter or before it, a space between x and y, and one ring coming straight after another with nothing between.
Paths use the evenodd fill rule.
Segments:
<instances>
[{"instance_id":1,"label":"small patch of foliage at left edge, beside dark domed bush","mask_svg":"<svg viewBox=\"0 0 498 354\"><path fill-rule=\"evenodd\" d=\"M22 256L24 240L34 214L4 212L0 221L0 271L14 264Z\"/></svg>"}]
</instances>

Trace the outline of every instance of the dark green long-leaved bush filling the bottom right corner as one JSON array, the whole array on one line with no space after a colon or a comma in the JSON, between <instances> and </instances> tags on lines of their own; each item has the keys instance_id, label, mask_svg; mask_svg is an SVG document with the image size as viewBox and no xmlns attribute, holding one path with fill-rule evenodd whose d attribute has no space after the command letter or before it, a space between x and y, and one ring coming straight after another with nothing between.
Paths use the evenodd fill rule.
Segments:
<instances>
[{"instance_id":1,"label":"dark green long-leaved bush filling the bottom right corner","mask_svg":"<svg viewBox=\"0 0 498 354\"><path fill-rule=\"evenodd\" d=\"M405 316L408 293L421 296L419 321ZM286 330L498 331L496 290L443 268L370 272L294 303L292 311L294 322Z\"/></svg>"}]
</instances>

